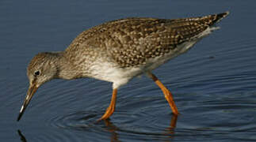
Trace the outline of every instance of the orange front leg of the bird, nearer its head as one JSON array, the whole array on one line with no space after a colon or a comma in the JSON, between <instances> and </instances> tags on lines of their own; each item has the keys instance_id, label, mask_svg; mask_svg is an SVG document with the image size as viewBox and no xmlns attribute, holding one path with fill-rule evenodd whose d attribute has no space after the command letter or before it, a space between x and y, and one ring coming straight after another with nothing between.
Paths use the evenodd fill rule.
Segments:
<instances>
[{"instance_id":1,"label":"orange front leg of the bird, nearer its head","mask_svg":"<svg viewBox=\"0 0 256 142\"><path fill-rule=\"evenodd\" d=\"M116 100L117 100L117 88L113 89L111 103L109 104L108 109L105 110L105 114L102 115L102 117L98 121L105 120L113 114L116 107Z\"/></svg>"}]
</instances>

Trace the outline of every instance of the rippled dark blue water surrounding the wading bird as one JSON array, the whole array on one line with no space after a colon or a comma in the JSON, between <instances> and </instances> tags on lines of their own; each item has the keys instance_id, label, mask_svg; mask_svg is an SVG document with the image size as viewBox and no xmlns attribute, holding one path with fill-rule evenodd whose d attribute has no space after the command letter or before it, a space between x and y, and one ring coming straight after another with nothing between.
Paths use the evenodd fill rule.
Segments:
<instances>
[{"instance_id":1,"label":"rippled dark blue water surrounding the wading bird","mask_svg":"<svg viewBox=\"0 0 256 142\"><path fill-rule=\"evenodd\" d=\"M0 140L254 141L256 140L255 1L0 2ZM175 118L147 77L120 88L110 121L111 84L53 80L36 92L21 121L26 66L38 52L64 50L86 28L123 17L178 18L230 10L221 29L154 73L170 88Z\"/></svg>"}]
</instances>

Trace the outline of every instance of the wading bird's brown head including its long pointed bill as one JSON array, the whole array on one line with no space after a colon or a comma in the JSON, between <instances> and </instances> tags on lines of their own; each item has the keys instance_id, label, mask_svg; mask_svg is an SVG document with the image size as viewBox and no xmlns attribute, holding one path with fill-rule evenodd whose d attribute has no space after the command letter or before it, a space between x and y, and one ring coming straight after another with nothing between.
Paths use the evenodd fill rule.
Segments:
<instances>
[{"instance_id":1,"label":"wading bird's brown head including its long pointed bill","mask_svg":"<svg viewBox=\"0 0 256 142\"><path fill-rule=\"evenodd\" d=\"M27 68L29 90L21 107L17 121L21 119L22 114L25 112L25 108L29 105L29 102L32 99L32 96L35 94L37 88L57 76L58 68L56 66L57 60L55 56L57 56L55 53L36 54L36 56L32 58L31 62L29 63Z\"/></svg>"}]
</instances>

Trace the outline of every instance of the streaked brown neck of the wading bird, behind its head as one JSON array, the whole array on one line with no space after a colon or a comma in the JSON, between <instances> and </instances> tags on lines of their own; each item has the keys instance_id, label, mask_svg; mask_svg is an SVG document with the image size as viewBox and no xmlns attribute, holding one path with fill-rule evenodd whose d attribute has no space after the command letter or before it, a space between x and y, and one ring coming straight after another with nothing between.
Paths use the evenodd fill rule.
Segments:
<instances>
[{"instance_id":1,"label":"streaked brown neck of the wading bird, behind its head","mask_svg":"<svg viewBox=\"0 0 256 142\"><path fill-rule=\"evenodd\" d=\"M72 80L82 77L82 73L76 69L75 65L71 63L67 58L65 51L56 52L58 54L55 58L55 66L57 67L57 73L55 78Z\"/></svg>"}]
</instances>

